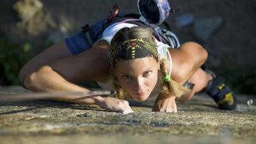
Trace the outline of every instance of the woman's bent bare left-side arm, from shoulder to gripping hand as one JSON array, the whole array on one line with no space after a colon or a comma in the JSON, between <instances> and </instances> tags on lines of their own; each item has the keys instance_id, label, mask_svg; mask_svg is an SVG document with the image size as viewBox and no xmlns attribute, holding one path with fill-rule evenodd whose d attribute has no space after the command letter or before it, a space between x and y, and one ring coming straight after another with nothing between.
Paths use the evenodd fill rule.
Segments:
<instances>
[{"instance_id":1,"label":"woman's bent bare left-side arm, from shoulder to gripping hand","mask_svg":"<svg viewBox=\"0 0 256 144\"><path fill-rule=\"evenodd\" d=\"M104 81L108 77L108 55L105 55L108 52L107 47L108 45L104 44L95 45L77 56L47 63L26 76L24 86L33 92L88 92L90 90L75 83L88 79ZM125 100L100 95L87 99L79 98L79 95L68 95L53 100L97 104L103 109L120 113L133 112Z\"/></svg>"}]
</instances>

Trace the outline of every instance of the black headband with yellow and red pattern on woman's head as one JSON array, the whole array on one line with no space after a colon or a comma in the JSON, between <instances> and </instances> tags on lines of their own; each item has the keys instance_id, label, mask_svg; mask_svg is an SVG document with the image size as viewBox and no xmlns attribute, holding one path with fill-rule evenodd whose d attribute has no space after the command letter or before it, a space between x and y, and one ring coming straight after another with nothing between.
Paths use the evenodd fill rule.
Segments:
<instances>
[{"instance_id":1,"label":"black headband with yellow and red pattern on woman's head","mask_svg":"<svg viewBox=\"0 0 256 144\"><path fill-rule=\"evenodd\" d=\"M157 44L153 36L125 40L109 48L112 63L152 56L157 58Z\"/></svg>"}]
</instances>

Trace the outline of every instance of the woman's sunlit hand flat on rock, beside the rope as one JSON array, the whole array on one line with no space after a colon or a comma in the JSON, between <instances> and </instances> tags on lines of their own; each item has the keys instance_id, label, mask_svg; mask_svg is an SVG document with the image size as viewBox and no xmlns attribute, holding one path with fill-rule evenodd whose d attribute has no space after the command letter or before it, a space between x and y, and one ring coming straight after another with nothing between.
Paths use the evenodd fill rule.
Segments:
<instances>
[{"instance_id":1,"label":"woman's sunlit hand flat on rock, beside the rope","mask_svg":"<svg viewBox=\"0 0 256 144\"><path fill-rule=\"evenodd\" d=\"M114 97L100 97L96 104L99 105L100 108L109 111L115 111L122 114L133 113L127 100L120 100Z\"/></svg>"}]
</instances>

